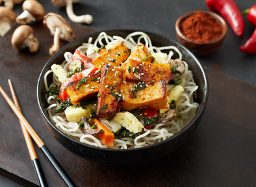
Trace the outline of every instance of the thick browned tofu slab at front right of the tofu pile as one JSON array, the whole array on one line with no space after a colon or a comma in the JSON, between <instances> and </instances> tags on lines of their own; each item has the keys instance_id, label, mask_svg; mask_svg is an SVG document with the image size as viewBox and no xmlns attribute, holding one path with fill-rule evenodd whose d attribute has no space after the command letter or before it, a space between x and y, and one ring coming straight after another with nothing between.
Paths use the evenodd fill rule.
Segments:
<instances>
[{"instance_id":1,"label":"thick browned tofu slab at front right of the tofu pile","mask_svg":"<svg viewBox=\"0 0 256 187\"><path fill-rule=\"evenodd\" d=\"M137 87L145 87L136 92L134 98L133 90ZM134 87L135 85L135 87ZM133 109L162 109L167 104L167 88L164 80L147 83L126 82L121 84L122 101L121 109L131 111Z\"/></svg>"}]
</instances>

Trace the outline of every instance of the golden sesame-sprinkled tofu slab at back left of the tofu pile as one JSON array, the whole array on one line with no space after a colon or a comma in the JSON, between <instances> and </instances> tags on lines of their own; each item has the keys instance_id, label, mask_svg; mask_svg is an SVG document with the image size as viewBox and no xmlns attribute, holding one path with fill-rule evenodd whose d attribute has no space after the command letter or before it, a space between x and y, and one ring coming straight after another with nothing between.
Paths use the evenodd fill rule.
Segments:
<instances>
[{"instance_id":1,"label":"golden sesame-sprinkled tofu slab at back left of the tofu pile","mask_svg":"<svg viewBox=\"0 0 256 187\"><path fill-rule=\"evenodd\" d=\"M110 63L110 65L118 66L123 63L130 56L130 52L126 45L120 41L112 49L101 54L92 63L96 65L97 69L101 70L103 65Z\"/></svg>"}]
</instances>

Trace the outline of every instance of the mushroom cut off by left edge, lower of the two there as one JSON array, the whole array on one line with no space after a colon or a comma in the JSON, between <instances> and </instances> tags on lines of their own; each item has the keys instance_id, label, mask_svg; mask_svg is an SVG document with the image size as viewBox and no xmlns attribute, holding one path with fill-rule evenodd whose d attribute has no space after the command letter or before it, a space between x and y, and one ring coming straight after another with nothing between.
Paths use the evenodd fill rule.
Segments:
<instances>
[{"instance_id":1,"label":"mushroom cut off by left edge, lower of the two there","mask_svg":"<svg viewBox=\"0 0 256 187\"><path fill-rule=\"evenodd\" d=\"M15 19L16 14L12 10L9 10L5 6L0 6L0 36L4 36L10 30Z\"/></svg>"}]
</instances>

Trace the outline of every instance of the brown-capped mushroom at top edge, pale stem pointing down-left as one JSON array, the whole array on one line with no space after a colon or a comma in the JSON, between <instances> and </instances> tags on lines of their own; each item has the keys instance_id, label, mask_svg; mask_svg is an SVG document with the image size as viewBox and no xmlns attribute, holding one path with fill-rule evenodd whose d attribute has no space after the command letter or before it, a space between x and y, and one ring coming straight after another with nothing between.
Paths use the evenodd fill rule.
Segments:
<instances>
[{"instance_id":1,"label":"brown-capped mushroom at top edge, pale stem pointing down-left","mask_svg":"<svg viewBox=\"0 0 256 187\"><path fill-rule=\"evenodd\" d=\"M26 0L22 8L24 11L16 18L16 22L20 25L29 24L32 21L41 21L44 18L44 6L38 1Z\"/></svg>"}]
</instances>

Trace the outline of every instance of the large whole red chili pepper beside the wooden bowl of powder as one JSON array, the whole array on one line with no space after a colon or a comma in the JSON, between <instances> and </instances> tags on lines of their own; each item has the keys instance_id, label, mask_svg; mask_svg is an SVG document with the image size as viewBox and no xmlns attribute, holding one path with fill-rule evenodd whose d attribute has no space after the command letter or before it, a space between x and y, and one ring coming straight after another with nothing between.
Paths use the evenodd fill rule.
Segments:
<instances>
[{"instance_id":1,"label":"large whole red chili pepper beside the wooden bowl of powder","mask_svg":"<svg viewBox=\"0 0 256 187\"><path fill-rule=\"evenodd\" d=\"M235 1L206 0L205 3L210 10L219 12L224 17L237 36L244 34L244 19Z\"/></svg>"}]
</instances>

